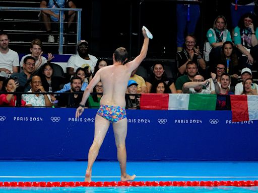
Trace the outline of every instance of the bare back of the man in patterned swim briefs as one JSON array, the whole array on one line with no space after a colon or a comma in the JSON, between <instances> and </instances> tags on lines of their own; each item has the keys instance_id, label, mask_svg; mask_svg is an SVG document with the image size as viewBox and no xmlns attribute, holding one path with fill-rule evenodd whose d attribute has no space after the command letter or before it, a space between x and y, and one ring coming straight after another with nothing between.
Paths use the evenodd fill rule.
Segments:
<instances>
[{"instance_id":1,"label":"bare back of the man in patterned swim briefs","mask_svg":"<svg viewBox=\"0 0 258 193\"><path fill-rule=\"evenodd\" d=\"M125 91L131 75L126 65L113 64L99 70L103 84L103 96L100 105L125 107Z\"/></svg>"}]
</instances>

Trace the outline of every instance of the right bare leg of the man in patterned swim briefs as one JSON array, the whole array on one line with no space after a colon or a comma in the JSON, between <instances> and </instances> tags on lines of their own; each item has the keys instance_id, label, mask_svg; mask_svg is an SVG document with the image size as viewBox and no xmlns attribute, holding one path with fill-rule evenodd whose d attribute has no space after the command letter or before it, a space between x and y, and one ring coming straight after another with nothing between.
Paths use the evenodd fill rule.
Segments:
<instances>
[{"instance_id":1,"label":"right bare leg of the man in patterned swim briefs","mask_svg":"<svg viewBox=\"0 0 258 193\"><path fill-rule=\"evenodd\" d=\"M120 164L121 181L134 180L136 175L128 175L126 173L126 148L125 138L127 134L127 119L122 119L113 123L113 130L115 136L115 145L117 148L117 159Z\"/></svg>"}]
</instances>

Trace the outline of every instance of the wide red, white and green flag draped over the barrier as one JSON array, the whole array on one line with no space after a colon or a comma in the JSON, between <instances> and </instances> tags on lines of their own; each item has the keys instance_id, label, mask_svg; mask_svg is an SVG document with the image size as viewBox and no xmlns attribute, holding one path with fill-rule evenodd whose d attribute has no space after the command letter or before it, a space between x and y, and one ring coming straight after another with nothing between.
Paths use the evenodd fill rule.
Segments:
<instances>
[{"instance_id":1,"label":"wide red, white and green flag draped over the barrier","mask_svg":"<svg viewBox=\"0 0 258 193\"><path fill-rule=\"evenodd\" d=\"M216 109L216 94L141 94L145 110L208 110Z\"/></svg>"}]
</instances>

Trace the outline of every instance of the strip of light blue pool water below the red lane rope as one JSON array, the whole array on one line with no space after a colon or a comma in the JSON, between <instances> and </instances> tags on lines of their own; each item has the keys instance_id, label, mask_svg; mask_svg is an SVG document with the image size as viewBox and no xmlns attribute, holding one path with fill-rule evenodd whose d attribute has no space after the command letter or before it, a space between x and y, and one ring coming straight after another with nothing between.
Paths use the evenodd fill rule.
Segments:
<instances>
[{"instance_id":1,"label":"strip of light blue pool water below the red lane rope","mask_svg":"<svg viewBox=\"0 0 258 193\"><path fill-rule=\"evenodd\" d=\"M60 193L60 192L70 192L70 193L249 193L258 192L258 186L251 187L235 187L235 186L219 186L219 187L175 187L175 186L158 186L158 187L0 187L1 193Z\"/></svg>"}]
</instances>

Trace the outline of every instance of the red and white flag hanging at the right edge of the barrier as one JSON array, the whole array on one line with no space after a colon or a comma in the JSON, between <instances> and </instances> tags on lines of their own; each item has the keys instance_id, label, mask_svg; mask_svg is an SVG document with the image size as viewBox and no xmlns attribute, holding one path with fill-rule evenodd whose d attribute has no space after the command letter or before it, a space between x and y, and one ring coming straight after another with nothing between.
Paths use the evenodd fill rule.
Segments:
<instances>
[{"instance_id":1,"label":"red and white flag hanging at the right edge of the barrier","mask_svg":"<svg viewBox=\"0 0 258 193\"><path fill-rule=\"evenodd\" d=\"M232 121L258 119L258 95L230 95Z\"/></svg>"}]
</instances>

